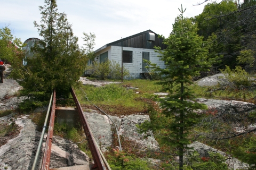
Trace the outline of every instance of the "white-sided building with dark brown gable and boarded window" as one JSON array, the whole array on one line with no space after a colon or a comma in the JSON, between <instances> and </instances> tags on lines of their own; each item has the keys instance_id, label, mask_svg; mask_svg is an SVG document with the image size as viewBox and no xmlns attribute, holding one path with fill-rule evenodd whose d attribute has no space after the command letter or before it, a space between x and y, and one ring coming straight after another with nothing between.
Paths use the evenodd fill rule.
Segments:
<instances>
[{"instance_id":1,"label":"white-sided building with dark brown gable and boarded window","mask_svg":"<svg viewBox=\"0 0 256 170\"><path fill-rule=\"evenodd\" d=\"M94 61L105 62L106 58L110 61L122 64L122 49L123 49L123 66L129 70L130 77L134 79L143 78L145 73L150 72L146 69L146 63L143 59L156 63L161 68L164 68L164 61L160 61L159 53L155 52L154 46L159 46L165 49L163 39L158 38L157 33L147 30L130 37L122 38L112 43L106 44L95 50ZM92 61L89 61L89 65Z\"/></svg>"}]
</instances>

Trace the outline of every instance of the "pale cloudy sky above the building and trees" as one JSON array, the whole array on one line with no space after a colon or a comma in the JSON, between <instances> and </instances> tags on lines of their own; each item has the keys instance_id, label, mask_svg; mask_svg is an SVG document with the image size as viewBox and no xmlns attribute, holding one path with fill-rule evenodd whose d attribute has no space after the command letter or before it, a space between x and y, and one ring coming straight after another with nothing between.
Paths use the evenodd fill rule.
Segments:
<instances>
[{"instance_id":1,"label":"pale cloudy sky above the building and trees","mask_svg":"<svg viewBox=\"0 0 256 170\"><path fill-rule=\"evenodd\" d=\"M83 32L96 35L94 50L134 34L152 30L169 36L174 19L180 14L178 8L187 8L184 16L202 13L204 0L57 0L58 12L67 14L73 25L79 46L83 46ZM40 23L39 6L43 0L0 0L0 28L8 26L13 36L24 42L39 37L34 21Z\"/></svg>"}]
</instances>

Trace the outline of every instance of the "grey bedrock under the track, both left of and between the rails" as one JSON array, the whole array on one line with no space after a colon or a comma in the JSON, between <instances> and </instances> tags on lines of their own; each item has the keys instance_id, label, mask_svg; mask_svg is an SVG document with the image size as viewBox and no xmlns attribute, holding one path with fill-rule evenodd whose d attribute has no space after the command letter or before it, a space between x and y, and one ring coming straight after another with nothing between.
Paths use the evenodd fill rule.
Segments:
<instances>
[{"instance_id":1,"label":"grey bedrock under the track, both left of and between the rails","mask_svg":"<svg viewBox=\"0 0 256 170\"><path fill-rule=\"evenodd\" d=\"M10 116L9 116L10 117ZM2 121L7 121L4 117ZM9 140L0 147L0 169L31 169L41 132L36 130L36 125L27 116L15 121L22 129L18 137ZM45 139L45 138L44 138ZM89 165L89 157L81 151L77 145L62 145L71 143L59 137L53 137L51 163L52 168L67 167L75 165ZM37 167L41 166L45 141L42 146L42 154L39 157Z\"/></svg>"}]
</instances>

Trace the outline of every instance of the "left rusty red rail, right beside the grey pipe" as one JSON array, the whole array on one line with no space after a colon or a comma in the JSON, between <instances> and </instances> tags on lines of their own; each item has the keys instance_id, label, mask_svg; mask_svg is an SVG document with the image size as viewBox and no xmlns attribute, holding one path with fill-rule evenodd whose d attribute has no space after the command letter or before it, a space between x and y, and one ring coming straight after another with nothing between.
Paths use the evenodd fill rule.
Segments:
<instances>
[{"instance_id":1,"label":"left rusty red rail, right beside the grey pipe","mask_svg":"<svg viewBox=\"0 0 256 170\"><path fill-rule=\"evenodd\" d=\"M53 91L53 101L52 101L52 112L51 119L49 124L49 129L47 133L46 145L44 150L44 157L42 163L42 170L48 170L50 168L50 158L51 158L51 149L52 149L52 136L54 128L54 118L55 118L55 106L56 106L56 91Z\"/></svg>"}]
</instances>

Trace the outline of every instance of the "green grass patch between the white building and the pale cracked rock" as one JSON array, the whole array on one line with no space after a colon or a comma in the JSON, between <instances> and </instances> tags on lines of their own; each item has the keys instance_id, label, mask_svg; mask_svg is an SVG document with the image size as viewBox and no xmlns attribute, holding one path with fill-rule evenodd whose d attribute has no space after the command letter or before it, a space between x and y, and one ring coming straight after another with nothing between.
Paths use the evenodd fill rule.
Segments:
<instances>
[{"instance_id":1,"label":"green grass patch between the white building and the pale cracked rock","mask_svg":"<svg viewBox=\"0 0 256 170\"><path fill-rule=\"evenodd\" d=\"M146 113L145 107L152 101L145 98L145 94L154 94L161 91L161 86L151 80L125 80L120 84L108 84L104 87L91 85L82 86L86 97L103 111L110 115L129 115L134 113ZM125 87L139 89L131 90ZM81 89L75 89L80 104L86 109L97 109L87 101ZM135 93L139 92L139 93Z\"/></svg>"}]
</instances>

